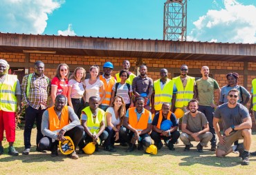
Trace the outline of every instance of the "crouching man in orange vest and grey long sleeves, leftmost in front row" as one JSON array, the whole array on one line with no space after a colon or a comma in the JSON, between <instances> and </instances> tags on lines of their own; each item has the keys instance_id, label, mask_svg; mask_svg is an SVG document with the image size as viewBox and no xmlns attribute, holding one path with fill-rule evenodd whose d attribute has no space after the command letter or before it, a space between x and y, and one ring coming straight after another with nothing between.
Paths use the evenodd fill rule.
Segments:
<instances>
[{"instance_id":1,"label":"crouching man in orange vest and grey long sleeves, leftmost in front row","mask_svg":"<svg viewBox=\"0 0 256 175\"><path fill-rule=\"evenodd\" d=\"M55 105L49 107L42 116L42 134L44 137L38 143L39 150L51 151L51 156L57 156L57 146L60 142L67 142L66 136L71 138L73 152L69 154L72 159L77 159L75 147L82 138L84 128L72 107L66 105L66 97L62 94L57 95ZM60 144L62 145L62 144ZM67 144L69 145L69 143ZM61 148L61 147L60 147ZM70 149L70 147L65 147ZM62 150L65 152L65 149ZM62 152L63 153L63 152Z\"/></svg>"}]
</instances>

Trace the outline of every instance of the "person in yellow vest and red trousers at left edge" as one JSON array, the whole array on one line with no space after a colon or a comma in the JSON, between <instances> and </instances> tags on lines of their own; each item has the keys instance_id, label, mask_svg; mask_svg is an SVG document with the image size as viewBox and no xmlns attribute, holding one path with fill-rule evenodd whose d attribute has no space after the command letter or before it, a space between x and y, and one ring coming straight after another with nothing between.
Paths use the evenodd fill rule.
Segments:
<instances>
[{"instance_id":1,"label":"person in yellow vest and red trousers at left edge","mask_svg":"<svg viewBox=\"0 0 256 175\"><path fill-rule=\"evenodd\" d=\"M0 59L0 155L3 154L3 131L9 142L8 154L18 156L15 142L15 112L21 112L21 89L16 75L8 74L10 65Z\"/></svg>"}]
</instances>

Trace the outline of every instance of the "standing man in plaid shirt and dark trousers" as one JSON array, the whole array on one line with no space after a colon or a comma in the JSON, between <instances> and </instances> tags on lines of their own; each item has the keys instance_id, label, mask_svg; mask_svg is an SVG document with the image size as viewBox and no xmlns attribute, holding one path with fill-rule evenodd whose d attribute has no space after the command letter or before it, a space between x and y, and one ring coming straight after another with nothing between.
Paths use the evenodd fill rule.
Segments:
<instances>
[{"instance_id":1,"label":"standing man in plaid shirt and dark trousers","mask_svg":"<svg viewBox=\"0 0 256 175\"><path fill-rule=\"evenodd\" d=\"M36 61L34 65L35 72L24 76L21 83L22 102L26 105L24 145L25 150L22 152L28 155L30 152L31 130L37 121L37 151L38 143L43 134L41 132L42 114L47 109L47 101L50 93L50 79L44 75L44 63Z\"/></svg>"}]
</instances>

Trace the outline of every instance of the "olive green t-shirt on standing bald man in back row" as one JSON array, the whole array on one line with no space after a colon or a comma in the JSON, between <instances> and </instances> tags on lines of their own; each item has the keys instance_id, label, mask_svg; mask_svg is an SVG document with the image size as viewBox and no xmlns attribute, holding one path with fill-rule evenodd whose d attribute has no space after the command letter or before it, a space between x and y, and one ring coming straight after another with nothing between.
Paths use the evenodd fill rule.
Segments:
<instances>
[{"instance_id":1,"label":"olive green t-shirt on standing bald man in back row","mask_svg":"<svg viewBox=\"0 0 256 175\"><path fill-rule=\"evenodd\" d=\"M196 87L199 96L199 105L210 106L214 103L214 90L219 89L219 84L214 79L208 77L207 80L196 80Z\"/></svg>"}]
</instances>

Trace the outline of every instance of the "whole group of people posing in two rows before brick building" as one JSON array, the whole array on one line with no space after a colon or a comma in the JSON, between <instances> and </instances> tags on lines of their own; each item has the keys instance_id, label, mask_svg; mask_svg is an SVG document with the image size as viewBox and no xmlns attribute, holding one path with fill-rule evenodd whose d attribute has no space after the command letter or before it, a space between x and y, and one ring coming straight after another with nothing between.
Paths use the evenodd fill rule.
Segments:
<instances>
[{"instance_id":1,"label":"whole group of people posing in two rows before brick building","mask_svg":"<svg viewBox=\"0 0 256 175\"><path fill-rule=\"evenodd\" d=\"M217 81L210 78L208 66L201 68L202 77L198 80L188 76L187 65L181 65L179 76L168 79L168 71L163 68L161 79L153 81L147 76L146 65L140 65L138 76L129 72L129 61L123 61L122 65L123 69L114 76L111 62L104 63L102 75L98 65L93 65L89 79L85 79L84 68L78 67L68 79L68 65L62 63L50 81L44 75L44 63L36 61L34 72L24 76L20 86L17 76L8 74L10 65L0 59L0 141L6 130L8 154L19 154L13 143L15 112L21 111L22 99L26 108L24 155L30 153L31 130L36 121L36 150L51 150L51 156L58 155L58 142L64 141L65 136L70 136L75 148L78 147L77 154L83 154L83 148L91 142L95 143L95 151L103 145L104 150L116 152L114 144L118 141L129 146L127 152L132 152L137 148L136 142L138 150L143 150L143 146L152 145L152 140L161 150L163 140L169 150L175 150L174 144L180 138L184 151L190 151L191 141L196 141L199 142L196 150L203 152L210 141L210 150L216 156L238 151L242 165L249 164L250 113L256 112L255 80L249 113L244 105L250 101L250 92L238 85L239 74L235 72L227 74L228 85L219 88ZM185 113L181 134L176 110ZM223 134L218 124L220 119ZM244 139L244 143L238 143L239 139ZM77 154L73 151L69 156L77 159Z\"/></svg>"}]
</instances>

